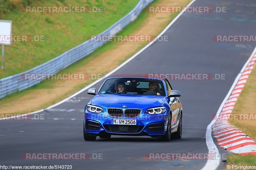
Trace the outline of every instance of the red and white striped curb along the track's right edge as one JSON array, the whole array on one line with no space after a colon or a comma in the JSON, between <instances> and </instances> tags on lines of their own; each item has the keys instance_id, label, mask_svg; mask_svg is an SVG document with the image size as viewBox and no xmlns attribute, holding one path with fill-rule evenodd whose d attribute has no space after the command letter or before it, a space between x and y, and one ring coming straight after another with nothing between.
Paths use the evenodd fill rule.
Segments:
<instances>
[{"instance_id":1,"label":"red and white striped curb along the track's right edge","mask_svg":"<svg viewBox=\"0 0 256 170\"><path fill-rule=\"evenodd\" d=\"M256 142L252 140L248 135L228 123L228 117L231 114L238 96L241 94L244 85L252 72L252 69L256 62L256 53L252 57L252 60L248 63L244 72L241 74L236 86L232 90L232 93L225 102L220 116L212 126L213 137L218 141L218 144L227 149L230 152L237 154L253 154L256 155ZM223 117L225 119L223 120Z\"/></svg>"}]
</instances>

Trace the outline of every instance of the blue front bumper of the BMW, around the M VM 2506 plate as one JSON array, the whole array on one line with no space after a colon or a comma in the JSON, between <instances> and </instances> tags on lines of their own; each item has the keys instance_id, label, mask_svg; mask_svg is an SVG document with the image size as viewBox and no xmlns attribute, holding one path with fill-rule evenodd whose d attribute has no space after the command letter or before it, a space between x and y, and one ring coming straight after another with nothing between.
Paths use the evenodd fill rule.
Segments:
<instances>
[{"instance_id":1,"label":"blue front bumper of the BMW, around the M VM 2506 plate","mask_svg":"<svg viewBox=\"0 0 256 170\"><path fill-rule=\"evenodd\" d=\"M114 125L111 119L136 119L136 125ZM100 135L151 136L164 135L167 128L168 112L156 115L141 113L138 117L111 117L108 113L92 113L85 110L84 128L87 133Z\"/></svg>"}]
</instances>

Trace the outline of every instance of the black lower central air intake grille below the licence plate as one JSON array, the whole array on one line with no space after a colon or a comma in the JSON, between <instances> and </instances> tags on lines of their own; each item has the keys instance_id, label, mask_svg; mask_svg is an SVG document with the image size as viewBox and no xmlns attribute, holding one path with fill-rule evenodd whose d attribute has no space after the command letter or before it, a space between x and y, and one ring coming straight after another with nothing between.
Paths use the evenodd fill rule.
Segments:
<instances>
[{"instance_id":1,"label":"black lower central air intake grille below the licence plate","mask_svg":"<svg viewBox=\"0 0 256 170\"><path fill-rule=\"evenodd\" d=\"M126 132L137 133L140 132L143 126L119 126L119 125L105 125L105 128L109 132Z\"/></svg>"}]
</instances>

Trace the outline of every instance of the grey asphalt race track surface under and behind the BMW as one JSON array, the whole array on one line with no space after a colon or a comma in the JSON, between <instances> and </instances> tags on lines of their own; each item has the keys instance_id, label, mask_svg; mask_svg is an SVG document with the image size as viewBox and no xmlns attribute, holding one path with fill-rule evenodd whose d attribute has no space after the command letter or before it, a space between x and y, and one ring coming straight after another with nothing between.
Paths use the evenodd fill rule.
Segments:
<instances>
[{"instance_id":1,"label":"grey asphalt race track surface under and behind the BMW","mask_svg":"<svg viewBox=\"0 0 256 170\"><path fill-rule=\"evenodd\" d=\"M115 74L208 73L225 80L170 80L180 90L183 135L159 142L151 137L112 136L84 141L84 106L92 97L83 92L50 110L45 120L0 121L0 165L72 165L72 169L200 169L206 160L148 160L147 153L208 153L207 125L212 121L255 42L214 42L214 35L255 35L253 0L196 0L192 6L227 6L226 13L184 13L155 42ZM125 52L124 52L125 53ZM95 63L95 66L97 64ZM99 66L104 67L104 66ZM102 81L94 87L99 89ZM15 107L15 106L13 106ZM214 139L215 141L215 139ZM99 160L24 160L22 153L102 153ZM219 148L220 153L228 153ZM229 154L229 153L228 153ZM218 169L225 162L221 162Z\"/></svg>"}]
</instances>

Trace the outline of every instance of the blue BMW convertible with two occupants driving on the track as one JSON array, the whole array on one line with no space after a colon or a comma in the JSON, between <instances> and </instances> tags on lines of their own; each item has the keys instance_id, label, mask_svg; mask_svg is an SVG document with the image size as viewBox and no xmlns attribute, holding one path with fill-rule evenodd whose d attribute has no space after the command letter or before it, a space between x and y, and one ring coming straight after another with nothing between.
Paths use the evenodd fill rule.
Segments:
<instances>
[{"instance_id":1,"label":"blue BMW convertible with two occupants driving on the track","mask_svg":"<svg viewBox=\"0 0 256 170\"><path fill-rule=\"evenodd\" d=\"M180 91L169 81L150 77L109 77L84 108L84 140L111 135L181 138Z\"/></svg>"}]
</instances>

